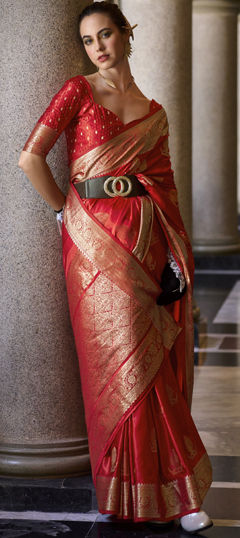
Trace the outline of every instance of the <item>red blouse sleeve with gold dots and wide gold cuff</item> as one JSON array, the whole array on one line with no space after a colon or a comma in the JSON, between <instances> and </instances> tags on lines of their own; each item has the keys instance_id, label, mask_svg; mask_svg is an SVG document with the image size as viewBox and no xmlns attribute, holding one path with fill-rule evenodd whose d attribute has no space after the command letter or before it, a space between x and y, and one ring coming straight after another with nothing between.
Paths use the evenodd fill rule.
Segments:
<instances>
[{"instance_id":1,"label":"red blouse sleeve with gold dots and wide gold cuff","mask_svg":"<svg viewBox=\"0 0 240 538\"><path fill-rule=\"evenodd\" d=\"M67 80L39 118L23 150L46 157L80 108L82 84Z\"/></svg>"}]
</instances>

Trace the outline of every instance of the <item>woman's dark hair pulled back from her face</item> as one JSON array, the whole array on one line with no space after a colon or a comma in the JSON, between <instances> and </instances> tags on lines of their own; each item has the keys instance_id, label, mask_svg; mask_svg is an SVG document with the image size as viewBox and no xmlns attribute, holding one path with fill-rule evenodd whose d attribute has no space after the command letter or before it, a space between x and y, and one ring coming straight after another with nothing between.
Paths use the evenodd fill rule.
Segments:
<instances>
[{"instance_id":1,"label":"woman's dark hair pulled back from her face","mask_svg":"<svg viewBox=\"0 0 240 538\"><path fill-rule=\"evenodd\" d=\"M79 15L79 26L84 17L93 15L93 13L104 13L108 15L110 19L112 19L112 22L118 27L120 32L126 32L126 28L124 27L128 25L128 21L116 4L109 4L109 2L94 2L93 4L86 6ZM82 41L81 36L80 39Z\"/></svg>"}]
</instances>

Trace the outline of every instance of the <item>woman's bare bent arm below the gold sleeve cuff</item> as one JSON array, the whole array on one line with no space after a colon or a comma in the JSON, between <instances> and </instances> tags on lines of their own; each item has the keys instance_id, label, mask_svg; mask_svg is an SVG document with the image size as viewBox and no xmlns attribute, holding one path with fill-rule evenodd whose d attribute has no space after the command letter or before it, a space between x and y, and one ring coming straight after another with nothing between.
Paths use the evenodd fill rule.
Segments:
<instances>
[{"instance_id":1,"label":"woman's bare bent arm below the gold sleeve cuff","mask_svg":"<svg viewBox=\"0 0 240 538\"><path fill-rule=\"evenodd\" d=\"M52 172L43 157L28 151L22 151L18 166L22 168L35 189L55 211L62 209L65 196L57 186Z\"/></svg>"}]
</instances>

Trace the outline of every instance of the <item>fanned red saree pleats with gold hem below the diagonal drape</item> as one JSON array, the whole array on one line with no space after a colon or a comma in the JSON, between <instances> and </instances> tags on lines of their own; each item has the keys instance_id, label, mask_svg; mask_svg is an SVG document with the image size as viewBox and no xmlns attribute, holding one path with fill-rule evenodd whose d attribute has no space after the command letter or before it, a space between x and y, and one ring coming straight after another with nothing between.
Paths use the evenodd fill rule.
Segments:
<instances>
[{"instance_id":1,"label":"fanned red saree pleats with gold hem below the diagonal drape","mask_svg":"<svg viewBox=\"0 0 240 538\"><path fill-rule=\"evenodd\" d=\"M170 369L166 357L103 458L96 483L103 513L168 521L202 504L210 464Z\"/></svg>"}]
</instances>

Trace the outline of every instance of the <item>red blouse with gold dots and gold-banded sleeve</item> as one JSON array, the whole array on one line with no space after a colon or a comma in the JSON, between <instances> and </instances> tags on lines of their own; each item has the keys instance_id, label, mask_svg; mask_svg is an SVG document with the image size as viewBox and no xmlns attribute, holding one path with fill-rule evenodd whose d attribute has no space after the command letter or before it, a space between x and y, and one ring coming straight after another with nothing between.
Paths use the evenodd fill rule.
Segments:
<instances>
[{"instance_id":1,"label":"red blouse with gold dots and gold-banded sleeve","mask_svg":"<svg viewBox=\"0 0 240 538\"><path fill-rule=\"evenodd\" d=\"M23 149L46 157L65 130L70 165L159 108L161 105L152 99L148 114L124 124L114 112L94 102L89 82L78 75L67 80L53 97Z\"/></svg>"}]
</instances>

